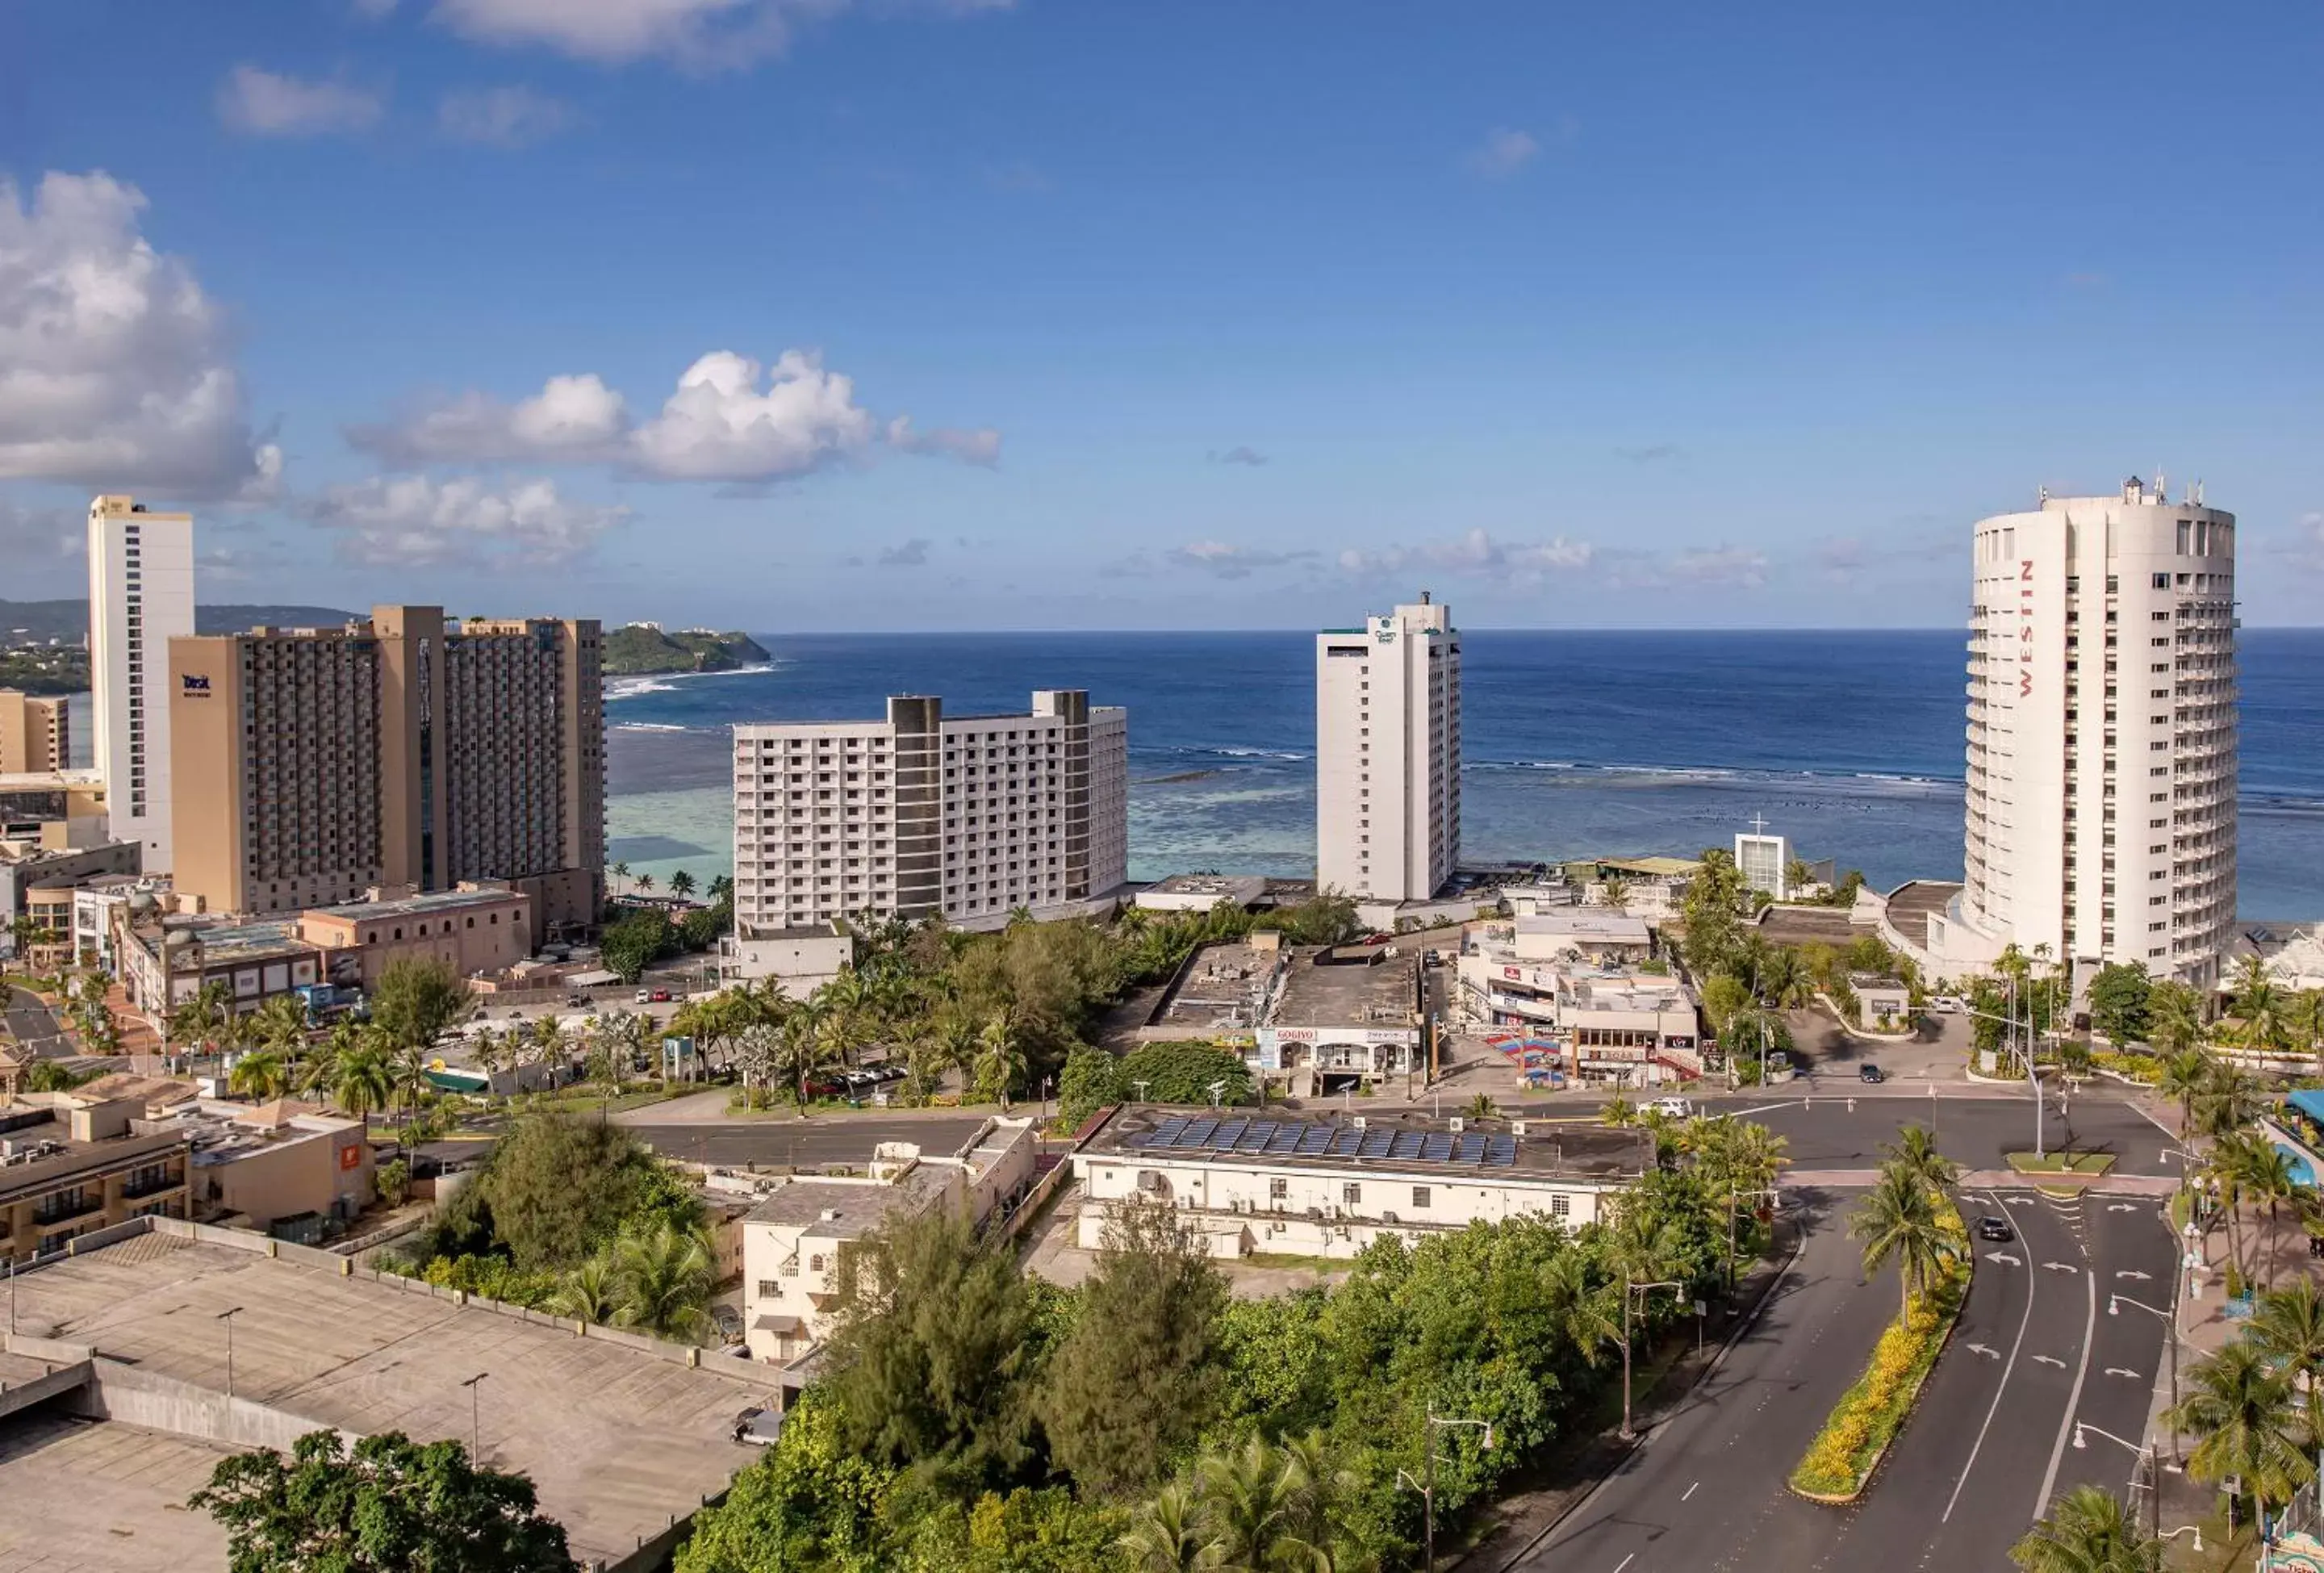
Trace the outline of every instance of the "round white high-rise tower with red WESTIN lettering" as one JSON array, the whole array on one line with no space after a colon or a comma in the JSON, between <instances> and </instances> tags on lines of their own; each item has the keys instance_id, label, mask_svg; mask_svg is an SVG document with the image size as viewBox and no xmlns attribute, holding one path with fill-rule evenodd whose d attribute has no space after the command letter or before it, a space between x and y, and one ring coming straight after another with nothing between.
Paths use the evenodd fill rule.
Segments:
<instances>
[{"instance_id":1,"label":"round white high-rise tower with red WESTIN lettering","mask_svg":"<svg viewBox=\"0 0 2324 1573\"><path fill-rule=\"evenodd\" d=\"M2208 985L2236 920L2236 518L2161 479L1975 527L1966 883L1941 969L2003 946Z\"/></svg>"}]
</instances>

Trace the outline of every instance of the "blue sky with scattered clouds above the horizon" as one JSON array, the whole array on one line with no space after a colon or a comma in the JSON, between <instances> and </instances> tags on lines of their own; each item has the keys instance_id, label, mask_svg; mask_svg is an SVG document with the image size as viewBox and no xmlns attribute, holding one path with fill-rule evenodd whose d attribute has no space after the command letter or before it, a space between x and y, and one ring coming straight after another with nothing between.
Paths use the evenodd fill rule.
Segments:
<instances>
[{"instance_id":1,"label":"blue sky with scattered clouds above the horizon","mask_svg":"<svg viewBox=\"0 0 2324 1573\"><path fill-rule=\"evenodd\" d=\"M2161 465L2319 620L2324 16L1899 9L30 0L0 597L1952 625Z\"/></svg>"}]
</instances>

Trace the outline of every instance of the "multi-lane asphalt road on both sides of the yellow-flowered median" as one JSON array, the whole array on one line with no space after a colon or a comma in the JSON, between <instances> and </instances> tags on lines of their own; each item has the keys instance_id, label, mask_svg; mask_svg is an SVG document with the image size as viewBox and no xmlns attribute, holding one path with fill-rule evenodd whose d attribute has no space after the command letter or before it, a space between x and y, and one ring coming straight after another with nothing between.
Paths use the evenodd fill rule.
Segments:
<instances>
[{"instance_id":1,"label":"multi-lane asphalt road on both sides of the yellow-flowered median","mask_svg":"<svg viewBox=\"0 0 2324 1573\"><path fill-rule=\"evenodd\" d=\"M1857 1280L1852 1194L1803 1199L1817 1208L1808 1243L1762 1320L1520 1566L2001 1573L2050 1499L2085 1480L2124 1489L2133 1452L2096 1431L2075 1450L2073 1429L2145 1441L2164 1324L2131 1306L2108 1315L2108 1301L2171 1301L2152 1201L1966 1197L1973 1215L2008 1215L2017 1238L1980 1243L1961 1324L1871 1489L1822 1508L1783 1482L1896 1313L1896 1283Z\"/></svg>"}]
</instances>

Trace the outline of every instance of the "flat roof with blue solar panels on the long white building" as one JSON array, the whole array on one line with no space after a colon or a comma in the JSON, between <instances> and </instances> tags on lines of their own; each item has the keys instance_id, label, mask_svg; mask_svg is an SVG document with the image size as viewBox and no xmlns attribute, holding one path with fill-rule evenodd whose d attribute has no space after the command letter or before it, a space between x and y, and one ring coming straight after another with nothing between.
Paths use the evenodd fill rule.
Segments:
<instances>
[{"instance_id":1,"label":"flat roof with blue solar panels on the long white building","mask_svg":"<svg viewBox=\"0 0 2324 1573\"><path fill-rule=\"evenodd\" d=\"M1645 1129L1525 1120L1450 1120L1427 1113L1285 1115L1239 1108L1132 1104L1081 1141L1076 1152L1190 1162L1260 1159L1269 1166L1343 1171L1446 1171L1464 1178L1634 1180L1655 1166ZM1525 1125L1525 1134L1515 1132Z\"/></svg>"}]
</instances>

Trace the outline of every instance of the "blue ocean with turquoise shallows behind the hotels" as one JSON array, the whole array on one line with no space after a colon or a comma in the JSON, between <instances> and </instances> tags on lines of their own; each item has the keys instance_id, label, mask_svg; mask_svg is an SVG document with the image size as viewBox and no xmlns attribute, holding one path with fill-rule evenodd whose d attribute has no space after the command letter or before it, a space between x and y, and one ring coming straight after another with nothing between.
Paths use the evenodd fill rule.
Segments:
<instances>
[{"instance_id":1,"label":"blue ocean with turquoise shallows behind the hotels","mask_svg":"<svg viewBox=\"0 0 2324 1573\"><path fill-rule=\"evenodd\" d=\"M1243 634L758 634L762 669L609 685L609 857L732 867L727 727L890 692L1129 709L1129 874L1311 874L1315 644ZM1875 885L1961 876L1961 634L1462 630L1469 860L1692 855L1752 816ZM2324 918L2324 630L2243 634L2240 899Z\"/></svg>"}]
</instances>

